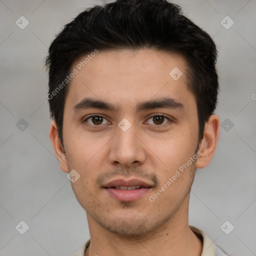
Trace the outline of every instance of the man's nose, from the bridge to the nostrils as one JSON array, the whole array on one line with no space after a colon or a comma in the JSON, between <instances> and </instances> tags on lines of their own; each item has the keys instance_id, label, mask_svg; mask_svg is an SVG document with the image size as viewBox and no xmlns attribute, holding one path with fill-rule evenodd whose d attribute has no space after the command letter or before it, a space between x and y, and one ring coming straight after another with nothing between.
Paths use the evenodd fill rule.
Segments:
<instances>
[{"instance_id":1,"label":"man's nose, from the bridge to the nostrils","mask_svg":"<svg viewBox=\"0 0 256 256\"><path fill-rule=\"evenodd\" d=\"M139 166L145 161L145 145L139 139L134 125L126 131L117 127L108 157L111 164L126 168Z\"/></svg>"}]
</instances>

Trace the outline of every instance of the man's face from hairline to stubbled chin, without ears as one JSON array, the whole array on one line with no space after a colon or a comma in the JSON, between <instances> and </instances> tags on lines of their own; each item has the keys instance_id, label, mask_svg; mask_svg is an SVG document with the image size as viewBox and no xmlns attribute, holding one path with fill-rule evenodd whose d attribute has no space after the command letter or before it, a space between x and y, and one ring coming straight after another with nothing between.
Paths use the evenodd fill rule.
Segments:
<instances>
[{"instance_id":1,"label":"man's face from hairline to stubbled chin, without ears","mask_svg":"<svg viewBox=\"0 0 256 256\"><path fill-rule=\"evenodd\" d=\"M109 231L146 233L187 209L198 118L186 68L157 50L99 51L71 80L63 141L68 169L80 175L72 188L87 217Z\"/></svg>"}]
</instances>

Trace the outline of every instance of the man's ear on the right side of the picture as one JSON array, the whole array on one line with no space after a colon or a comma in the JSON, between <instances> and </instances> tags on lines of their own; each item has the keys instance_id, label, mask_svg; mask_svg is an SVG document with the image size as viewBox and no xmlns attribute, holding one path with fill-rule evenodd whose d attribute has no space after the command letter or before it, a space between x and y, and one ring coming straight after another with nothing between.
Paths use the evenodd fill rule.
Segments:
<instances>
[{"instance_id":1,"label":"man's ear on the right side of the picture","mask_svg":"<svg viewBox=\"0 0 256 256\"><path fill-rule=\"evenodd\" d=\"M214 155L219 135L219 117L212 114L204 125L203 138L198 151L200 155L196 161L196 168L205 167Z\"/></svg>"}]
</instances>

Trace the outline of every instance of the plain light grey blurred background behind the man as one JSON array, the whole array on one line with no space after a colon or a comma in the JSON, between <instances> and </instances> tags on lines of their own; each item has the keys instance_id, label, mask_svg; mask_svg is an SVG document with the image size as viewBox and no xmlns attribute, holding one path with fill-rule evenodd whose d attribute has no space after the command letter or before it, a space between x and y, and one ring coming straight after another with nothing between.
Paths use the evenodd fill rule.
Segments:
<instances>
[{"instance_id":1,"label":"plain light grey blurred background behind the man","mask_svg":"<svg viewBox=\"0 0 256 256\"><path fill-rule=\"evenodd\" d=\"M256 1L178 0L219 50L221 127L210 164L197 170L189 222L233 256L256 255ZM72 255L89 238L85 211L56 160L43 61L54 34L96 0L0 0L0 255ZM15 21L25 16L20 29ZM220 21L230 16L225 29ZM229 22L229 21L228 21ZM16 123L24 118L23 131ZM23 235L15 226L25 221ZM234 229L225 234L228 220ZM230 228L230 227L228 227Z\"/></svg>"}]
</instances>

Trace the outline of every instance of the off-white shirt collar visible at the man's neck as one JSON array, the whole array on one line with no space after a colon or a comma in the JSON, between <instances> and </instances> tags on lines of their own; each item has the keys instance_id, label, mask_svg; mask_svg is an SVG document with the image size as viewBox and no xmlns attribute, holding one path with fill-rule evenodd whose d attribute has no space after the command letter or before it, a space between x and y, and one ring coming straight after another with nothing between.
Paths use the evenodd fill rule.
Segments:
<instances>
[{"instance_id":1,"label":"off-white shirt collar visible at the man's neck","mask_svg":"<svg viewBox=\"0 0 256 256\"><path fill-rule=\"evenodd\" d=\"M223 250L214 244L213 241L200 229L194 226L189 226L189 228L202 237L202 254L201 256L228 256ZM90 244L90 239L88 239L80 248L80 250L74 256L84 256L85 250Z\"/></svg>"}]
</instances>

